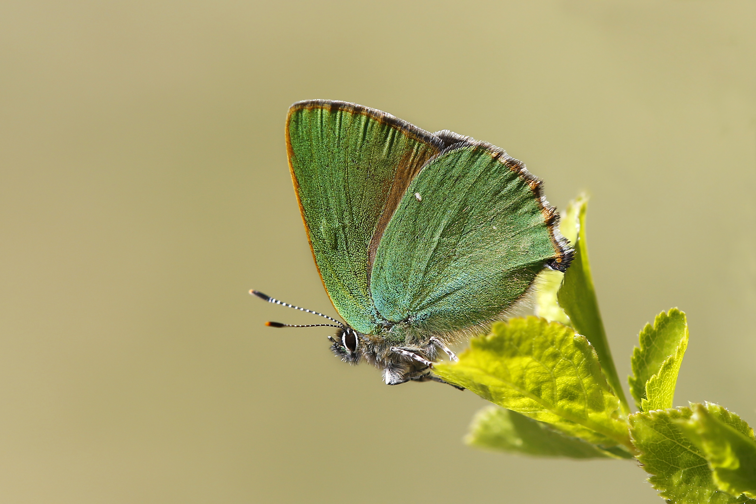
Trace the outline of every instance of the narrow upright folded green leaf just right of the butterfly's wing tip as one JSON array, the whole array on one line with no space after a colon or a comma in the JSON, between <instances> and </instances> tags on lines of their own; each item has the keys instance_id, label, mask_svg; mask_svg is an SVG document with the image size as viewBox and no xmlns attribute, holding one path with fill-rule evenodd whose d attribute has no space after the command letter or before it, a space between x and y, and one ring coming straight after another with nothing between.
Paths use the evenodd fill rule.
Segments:
<instances>
[{"instance_id":1,"label":"narrow upright folded green leaf just right of the butterfly's wing tip","mask_svg":"<svg viewBox=\"0 0 756 504\"><path fill-rule=\"evenodd\" d=\"M599 301L596 299L596 290L593 288L593 277L590 274L588 262L588 247L586 243L585 213L587 210L587 196L578 196L570 203L567 215L577 215L576 227L578 239L575 242L575 258L572 265L565 273L562 288L559 289L557 299L559 306L565 311L575 330L584 335L599 356L601 368L606 375L606 380L612 387L612 391L619 397L622 411L630 413L627 399L624 397L622 385L620 385L617 369L612 360L612 351L609 350L609 342L606 340L606 331L601 320ZM574 208L573 208L574 207ZM565 219L567 221L567 219ZM566 222L565 222L566 227Z\"/></svg>"}]
</instances>

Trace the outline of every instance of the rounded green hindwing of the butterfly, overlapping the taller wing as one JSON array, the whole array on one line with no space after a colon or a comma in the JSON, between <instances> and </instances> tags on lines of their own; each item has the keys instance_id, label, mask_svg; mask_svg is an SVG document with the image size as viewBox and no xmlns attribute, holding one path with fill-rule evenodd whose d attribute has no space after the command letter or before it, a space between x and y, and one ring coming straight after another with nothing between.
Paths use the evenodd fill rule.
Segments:
<instances>
[{"instance_id":1,"label":"rounded green hindwing of the butterfly, overlapping the taller wing","mask_svg":"<svg viewBox=\"0 0 756 504\"><path fill-rule=\"evenodd\" d=\"M380 240L370 286L380 317L416 332L470 329L510 308L547 263L566 267L540 184L482 142L432 159Z\"/></svg>"}]
</instances>

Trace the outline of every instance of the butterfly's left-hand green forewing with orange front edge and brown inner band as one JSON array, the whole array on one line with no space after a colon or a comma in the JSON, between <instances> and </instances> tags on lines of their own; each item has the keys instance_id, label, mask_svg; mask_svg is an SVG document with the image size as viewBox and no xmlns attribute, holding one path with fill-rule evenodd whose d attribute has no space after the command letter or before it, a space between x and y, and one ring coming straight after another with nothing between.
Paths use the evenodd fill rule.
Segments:
<instances>
[{"instance_id":1,"label":"butterfly's left-hand green forewing with orange front edge and brown inner band","mask_svg":"<svg viewBox=\"0 0 756 504\"><path fill-rule=\"evenodd\" d=\"M369 277L380 237L407 185L443 143L380 110L327 100L293 104L286 134L323 284L345 322L372 333Z\"/></svg>"}]
</instances>

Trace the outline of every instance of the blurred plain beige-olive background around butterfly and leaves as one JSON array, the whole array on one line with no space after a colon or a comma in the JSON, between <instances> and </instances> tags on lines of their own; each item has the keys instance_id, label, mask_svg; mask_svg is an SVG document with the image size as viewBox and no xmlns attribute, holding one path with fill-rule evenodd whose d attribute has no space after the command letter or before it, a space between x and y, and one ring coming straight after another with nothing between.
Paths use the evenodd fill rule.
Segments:
<instances>
[{"instance_id":1,"label":"blurred plain beige-olive background around butterfly and leaves","mask_svg":"<svg viewBox=\"0 0 756 504\"><path fill-rule=\"evenodd\" d=\"M485 453L484 401L387 387L334 314L287 169L296 100L504 147L592 195L621 376L678 306L677 404L756 425L756 3L0 4L2 502L660 502L634 462Z\"/></svg>"}]
</instances>

